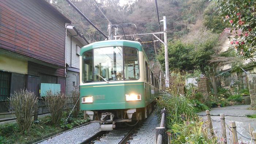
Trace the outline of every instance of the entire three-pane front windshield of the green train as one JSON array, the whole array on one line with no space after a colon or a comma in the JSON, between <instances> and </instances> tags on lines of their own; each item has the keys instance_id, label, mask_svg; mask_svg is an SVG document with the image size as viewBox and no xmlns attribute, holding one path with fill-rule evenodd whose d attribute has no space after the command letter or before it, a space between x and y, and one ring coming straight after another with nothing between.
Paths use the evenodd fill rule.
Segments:
<instances>
[{"instance_id":1,"label":"entire three-pane front windshield of the green train","mask_svg":"<svg viewBox=\"0 0 256 144\"><path fill-rule=\"evenodd\" d=\"M84 83L139 79L139 53L135 48L96 48L84 52L82 58Z\"/></svg>"}]
</instances>

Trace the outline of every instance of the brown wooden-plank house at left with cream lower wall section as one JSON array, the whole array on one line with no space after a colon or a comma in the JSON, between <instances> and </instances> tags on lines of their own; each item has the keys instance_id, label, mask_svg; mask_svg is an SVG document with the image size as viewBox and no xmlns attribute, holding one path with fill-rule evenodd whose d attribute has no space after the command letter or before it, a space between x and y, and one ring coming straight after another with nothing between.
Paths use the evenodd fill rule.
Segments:
<instances>
[{"instance_id":1,"label":"brown wooden-plank house at left with cream lower wall section","mask_svg":"<svg viewBox=\"0 0 256 144\"><path fill-rule=\"evenodd\" d=\"M67 23L71 21L46 0L1 0L1 113L10 113L7 98L21 88L39 96L41 83L52 83L65 92Z\"/></svg>"}]
</instances>

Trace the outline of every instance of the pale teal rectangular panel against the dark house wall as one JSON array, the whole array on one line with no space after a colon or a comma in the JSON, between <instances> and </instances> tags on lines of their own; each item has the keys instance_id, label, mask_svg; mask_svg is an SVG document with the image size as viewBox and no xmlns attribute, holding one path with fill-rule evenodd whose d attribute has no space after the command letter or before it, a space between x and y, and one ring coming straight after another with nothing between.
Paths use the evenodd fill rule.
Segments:
<instances>
[{"instance_id":1,"label":"pale teal rectangular panel against the dark house wall","mask_svg":"<svg viewBox=\"0 0 256 144\"><path fill-rule=\"evenodd\" d=\"M55 83L41 83L41 96L46 96L46 91L52 90L53 94L60 92L60 84Z\"/></svg>"}]
</instances>

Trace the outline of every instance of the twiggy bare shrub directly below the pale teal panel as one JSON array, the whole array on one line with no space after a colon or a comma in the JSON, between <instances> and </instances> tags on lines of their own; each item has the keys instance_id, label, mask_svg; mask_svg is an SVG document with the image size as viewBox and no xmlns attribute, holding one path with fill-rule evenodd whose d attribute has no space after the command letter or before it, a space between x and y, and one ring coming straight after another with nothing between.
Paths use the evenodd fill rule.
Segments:
<instances>
[{"instance_id":1,"label":"twiggy bare shrub directly below the pale teal panel","mask_svg":"<svg viewBox=\"0 0 256 144\"><path fill-rule=\"evenodd\" d=\"M46 91L46 106L52 116L52 123L59 124L65 107L65 95L63 93L53 94L51 90Z\"/></svg>"}]
</instances>

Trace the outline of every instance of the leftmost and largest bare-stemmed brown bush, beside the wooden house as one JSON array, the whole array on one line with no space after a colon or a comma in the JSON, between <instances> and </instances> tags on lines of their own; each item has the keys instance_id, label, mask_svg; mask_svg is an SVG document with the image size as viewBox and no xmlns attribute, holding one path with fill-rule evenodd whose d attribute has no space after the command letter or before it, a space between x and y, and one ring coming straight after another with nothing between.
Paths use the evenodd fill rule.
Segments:
<instances>
[{"instance_id":1,"label":"leftmost and largest bare-stemmed brown bush, beside the wooden house","mask_svg":"<svg viewBox=\"0 0 256 144\"><path fill-rule=\"evenodd\" d=\"M25 89L20 90L18 93L14 92L8 101L15 111L20 132L22 134L28 133L31 123L33 122L33 115L38 107L38 99L34 92Z\"/></svg>"}]
</instances>

